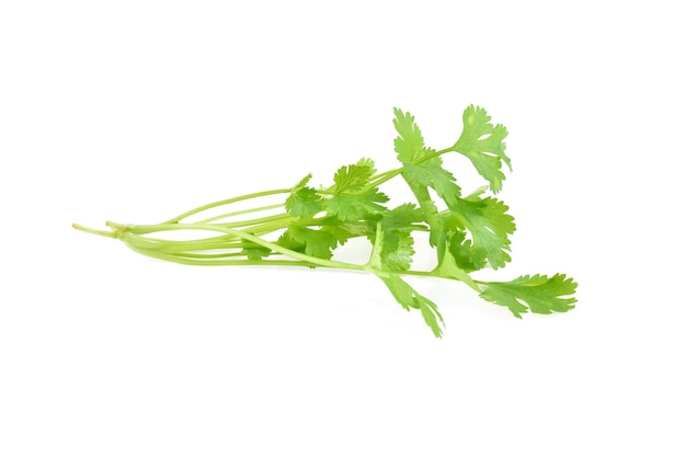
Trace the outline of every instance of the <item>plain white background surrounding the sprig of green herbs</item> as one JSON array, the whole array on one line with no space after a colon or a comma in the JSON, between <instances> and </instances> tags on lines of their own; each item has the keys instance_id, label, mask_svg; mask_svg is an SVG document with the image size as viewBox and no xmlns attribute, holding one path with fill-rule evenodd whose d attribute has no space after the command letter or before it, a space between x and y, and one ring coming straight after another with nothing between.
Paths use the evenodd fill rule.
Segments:
<instances>
[{"instance_id":1,"label":"plain white background surrounding the sprig of green herbs","mask_svg":"<svg viewBox=\"0 0 686 458\"><path fill-rule=\"evenodd\" d=\"M0 456L686 456L677 4L2 2ZM388 169L393 106L444 148L471 103L514 165L487 276L568 273L569 313L410 278L436 340L366 275L70 227Z\"/></svg>"}]
</instances>

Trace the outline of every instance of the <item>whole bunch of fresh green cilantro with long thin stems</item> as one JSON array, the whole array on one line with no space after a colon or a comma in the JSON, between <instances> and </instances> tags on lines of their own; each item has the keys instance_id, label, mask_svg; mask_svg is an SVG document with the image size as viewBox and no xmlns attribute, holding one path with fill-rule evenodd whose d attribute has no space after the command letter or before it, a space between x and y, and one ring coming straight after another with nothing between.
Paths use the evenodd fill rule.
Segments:
<instances>
[{"instance_id":1,"label":"whole bunch of fresh green cilantro with long thin stems","mask_svg":"<svg viewBox=\"0 0 686 458\"><path fill-rule=\"evenodd\" d=\"M378 276L405 310L420 310L435 336L443 335L438 307L419 294L402 276L430 276L465 283L487 301L506 307L515 317L565 312L574 308L576 284L562 274L525 275L511 282L482 282L472 272L504 267L511 261L510 236L515 231L508 207L498 194L512 170L505 154L503 125L491 124L485 110L469 106L462 114L462 133L449 148L435 150L424 142L410 113L395 110L398 133L395 150L400 168L377 172L371 159L339 168L329 187L309 185L311 174L293 187L263 191L203 205L158 225L107 222L108 231L73 225L76 229L122 240L141 254L192 265L284 265L363 271ZM444 169L441 157L467 157L487 185L468 195ZM388 208L380 186L400 176L415 203ZM282 196L278 204L259 205L198 219L208 210ZM435 198L436 196L437 198ZM271 213L248 218L251 213ZM190 221L191 218L195 221ZM159 234L174 230L214 231L215 237L176 240ZM411 270L415 252L413 234L428 232L436 253L432 271ZM155 233L156 237L148 237ZM334 250L354 238L373 245L365 264L336 261Z\"/></svg>"}]
</instances>

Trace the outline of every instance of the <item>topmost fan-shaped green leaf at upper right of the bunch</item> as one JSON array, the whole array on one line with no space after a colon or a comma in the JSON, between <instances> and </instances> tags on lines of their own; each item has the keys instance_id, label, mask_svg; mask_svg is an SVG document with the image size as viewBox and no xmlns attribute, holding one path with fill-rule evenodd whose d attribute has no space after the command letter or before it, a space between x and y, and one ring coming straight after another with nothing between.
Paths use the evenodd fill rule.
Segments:
<instances>
[{"instance_id":1,"label":"topmost fan-shaped green leaf at upper right of the bunch","mask_svg":"<svg viewBox=\"0 0 686 458\"><path fill-rule=\"evenodd\" d=\"M481 176L490 183L491 191L498 193L502 190L505 174L501 171L502 162L510 170L512 163L505 154L507 129L502 124L490 123L485 110L470 105L462 114L464 129L453 150L469 158Z\"/></svg>"}]
</instances>

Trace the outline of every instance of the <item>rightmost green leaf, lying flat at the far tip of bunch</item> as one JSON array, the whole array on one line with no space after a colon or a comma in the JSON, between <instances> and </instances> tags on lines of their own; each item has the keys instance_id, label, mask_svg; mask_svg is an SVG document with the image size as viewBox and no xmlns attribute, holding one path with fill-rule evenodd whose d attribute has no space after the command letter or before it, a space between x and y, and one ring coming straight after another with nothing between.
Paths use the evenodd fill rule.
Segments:
<instances>
[{"instance_id":1,"label":"rightmost green leaf, lying flat at the far tip of bunch","mask_svg":"<svg viewBox=\"0 0 686 458\"><path fill-rule=\"evenodd\" d=\"M542 314L565 312L576 304L572 295L578 285L563 274L556 274L550 278L546 275L525 275L512 282L488 282L485 285L481 297L507 307L517 318L522 318L522 313L527 310Z\"/></svg>"}]
</instances>

